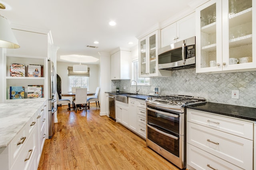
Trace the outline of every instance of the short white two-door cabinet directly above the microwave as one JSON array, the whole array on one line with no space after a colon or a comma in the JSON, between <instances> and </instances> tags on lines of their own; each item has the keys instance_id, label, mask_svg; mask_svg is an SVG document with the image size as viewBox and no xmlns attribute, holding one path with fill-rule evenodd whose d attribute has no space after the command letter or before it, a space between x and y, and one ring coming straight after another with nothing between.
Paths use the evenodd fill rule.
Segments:
<instances>
[{"instance_id":1,"label":"short white two-door cabinet directly above the microwave","mask_svg":"<svg viewBox=\"0 0 256 170\"><path fill-rule=\"evenodd\" d=\"M195 12L161 29L161 47L196 35Z\"/></svg>"}]
</instances>

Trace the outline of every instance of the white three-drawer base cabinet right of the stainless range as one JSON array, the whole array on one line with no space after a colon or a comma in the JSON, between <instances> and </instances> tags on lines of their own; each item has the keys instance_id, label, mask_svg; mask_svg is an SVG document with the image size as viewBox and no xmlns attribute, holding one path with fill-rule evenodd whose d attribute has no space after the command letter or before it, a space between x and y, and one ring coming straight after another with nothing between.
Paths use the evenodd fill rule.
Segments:
<instances>
[{"instance_id":1,"label":"white three-drawer base cabinet right of the stainless range","mask_svg":"<svg viewBox=\"0 0 256 170\"><path fill-rule=\"evenodd\" d=\"M187 109L186 125L187 164L192 168L229 169L234 164L234 169L253 169L252 122Z\"/></svg>"}]
</instances>

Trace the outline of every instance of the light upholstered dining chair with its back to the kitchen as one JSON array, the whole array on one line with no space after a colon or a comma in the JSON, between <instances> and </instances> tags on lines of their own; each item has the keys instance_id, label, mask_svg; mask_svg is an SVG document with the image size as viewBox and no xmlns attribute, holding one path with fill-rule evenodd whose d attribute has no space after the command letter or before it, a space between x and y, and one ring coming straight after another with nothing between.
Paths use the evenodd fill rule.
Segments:
<instances>
[{"instance_id":1,"label":"light upholstered dining chair with its back to the kitchen","mask_svg":"<svg viewBox=\"0 0 256 170\"><path fill-rule=\"evenodd\" d=\"M87 88L76 88L74 99L75 110L77 110L77 105L83 105L87 111Z\"/></svg>"}]
</instances>

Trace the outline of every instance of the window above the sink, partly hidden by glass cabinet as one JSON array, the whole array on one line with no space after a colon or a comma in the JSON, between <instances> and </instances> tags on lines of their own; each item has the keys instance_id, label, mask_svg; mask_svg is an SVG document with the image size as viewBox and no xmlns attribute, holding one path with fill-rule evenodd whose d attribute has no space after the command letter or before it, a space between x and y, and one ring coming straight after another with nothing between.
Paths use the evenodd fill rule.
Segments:
<instances>
[{"instance_id":1,"label":"window above the sink, partly hidden by glass cabinet","mask_svg":"<svg viewBox=\"0 0 256 170\"><path fill-rule=\"evenodd\" d=\"M138 86L150 86L150 78L139 77L139 59L132 60L132 80L137 82ZM135 82L132 82L135 85Z\"/></svg>"}]
</instances>

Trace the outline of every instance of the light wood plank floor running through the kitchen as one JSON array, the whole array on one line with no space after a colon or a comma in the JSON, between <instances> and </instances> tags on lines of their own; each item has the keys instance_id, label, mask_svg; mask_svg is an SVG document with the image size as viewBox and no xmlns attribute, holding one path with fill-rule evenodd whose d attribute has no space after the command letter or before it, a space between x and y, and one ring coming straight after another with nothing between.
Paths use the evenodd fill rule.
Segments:
<instances>
[{"instance_id":1,"label":"light wood plank floor running through the kitchen","mask_svg":"<svg viewBox=\"0 0 256 170\"><path fill-rule=\"evenodd\" d=\"M146 141L107 116L96 104L58 107L55 133L44 144L38 170L178 170Z\"/></svg>"}]
</instances>

